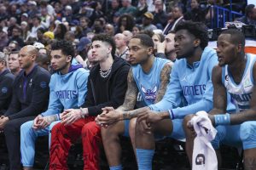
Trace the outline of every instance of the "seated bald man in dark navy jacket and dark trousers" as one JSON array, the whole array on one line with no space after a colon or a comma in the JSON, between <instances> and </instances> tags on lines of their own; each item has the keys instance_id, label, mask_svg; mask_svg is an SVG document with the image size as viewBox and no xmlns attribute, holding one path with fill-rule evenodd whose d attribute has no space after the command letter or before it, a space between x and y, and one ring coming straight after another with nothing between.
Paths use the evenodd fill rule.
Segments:
<instances>
[{"instance_id":1,"label":"seated bald man in dark navy jacket and dark trousers","mask_svg":"<svg viewBox=\"0 0 256 170\"><path fill-rule=\"evenodd\" d=\"M15 77L11 104L0 119L0 128L4 131L9 153L10 170L20 169L21 124L45 111L48 105L50 75L35 64L37 55L38 50L31 45L20 49L19 61L23 70Z\"/></svg>"}]
</instances>

